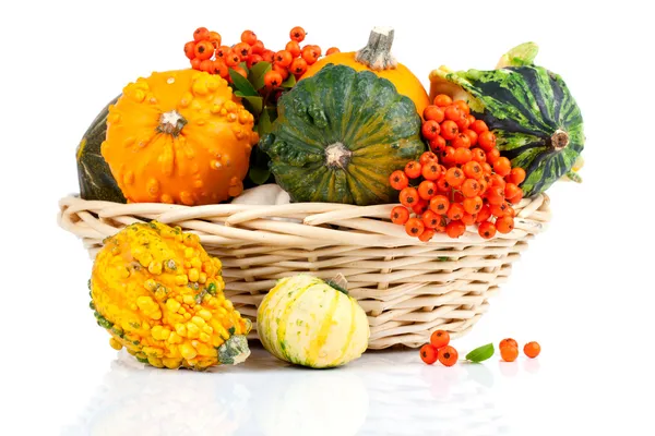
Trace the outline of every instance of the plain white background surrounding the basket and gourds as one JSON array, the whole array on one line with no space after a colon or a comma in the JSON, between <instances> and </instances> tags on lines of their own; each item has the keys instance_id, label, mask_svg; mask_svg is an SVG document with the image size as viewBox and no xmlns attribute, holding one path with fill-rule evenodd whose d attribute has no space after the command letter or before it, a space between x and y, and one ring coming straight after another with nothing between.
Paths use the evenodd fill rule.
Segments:
<instances>
[{"instance_id":1,"label":"plain white background surrounding the basket and gourds","mask_svg":"<svg viewBox=\"0 0 655 436\"><path fill-rule=\"evenodd\" d=\"M655 36L640 4L3 2L0 434L652 434ZM538 340L541 356L446 370L414 351L374 353L317 373L255 350L209 375L118 358L87 308L91 263L57 227L57 202L78 190L75 147L99 109L140 75L186 68L182 45L200 25L235 43L252 28L271 47L302 25L309 44L344 51L392 25L394 53L426 86L441 64L490 69L537 41L537 63L583 111L584 183L549 191L550 228L454 344L513 336Z\"/></svg>"}]
</instances>

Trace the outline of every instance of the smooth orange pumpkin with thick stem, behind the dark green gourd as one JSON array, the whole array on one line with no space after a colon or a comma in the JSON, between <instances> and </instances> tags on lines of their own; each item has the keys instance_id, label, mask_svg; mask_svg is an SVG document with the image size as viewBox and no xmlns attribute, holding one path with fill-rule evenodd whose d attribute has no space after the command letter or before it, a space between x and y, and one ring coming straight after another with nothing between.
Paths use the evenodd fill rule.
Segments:
<instances>
[{"instance_id":1,"label":"smooth orange pumpkin with thick stem, behind the dark green gourd","mask_svg":"<svg viewBox=\"0 0 655 436\"><path fill-rule=\"evenodd\" d=\"M326 56L311 65L301 78L311 77L329 63L348 65L356 71L369 70L393 83L398 94L409 97L422 117L424 109L430 105L428 93L418 77L391 56L393 35L393 28L374 27L365 48Z\"/></svg>"}]
</instances>

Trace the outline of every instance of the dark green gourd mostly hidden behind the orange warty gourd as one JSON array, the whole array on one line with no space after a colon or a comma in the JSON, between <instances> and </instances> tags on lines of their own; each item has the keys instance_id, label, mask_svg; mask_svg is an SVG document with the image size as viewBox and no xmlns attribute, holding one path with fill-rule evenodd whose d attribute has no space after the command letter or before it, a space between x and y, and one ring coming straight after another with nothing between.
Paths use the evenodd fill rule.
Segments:
<instances>
[{"instance_id":1,"label":"dark green gourd mostly hidden behind the orange warty gourd","mask_svg":"<svg viewBox=\"0 0 655 436\"><path fill-rule=\"evenodd\" d=\"M107 134L109 106L116 104L116 100L118 100L118 97L98 113L78 146L78 180L80 182L80 196L84 199L126 203L126 197L100 154L100 144L103 144Z\"/></svg>"}]
</instances>

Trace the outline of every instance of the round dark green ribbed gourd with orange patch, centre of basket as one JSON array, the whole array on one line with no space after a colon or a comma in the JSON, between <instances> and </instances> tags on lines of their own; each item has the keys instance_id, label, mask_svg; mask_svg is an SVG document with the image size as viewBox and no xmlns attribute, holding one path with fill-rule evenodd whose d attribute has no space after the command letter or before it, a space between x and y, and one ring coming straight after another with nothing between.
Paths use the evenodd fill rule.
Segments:
<instances>
[{"instance_id":1,"label":"round dark green ribbed gourd with orange patch, centre of basket","mask_svg":"<svg viewBox=\"0 0 655 436\"><path fill-rule=\"evenodd\" d=\"M426 148L414 102L369 71L326 65L283 95L277 110L260 147L294 202L392 203L389 174Z\"/></svg>"}]
</instances>

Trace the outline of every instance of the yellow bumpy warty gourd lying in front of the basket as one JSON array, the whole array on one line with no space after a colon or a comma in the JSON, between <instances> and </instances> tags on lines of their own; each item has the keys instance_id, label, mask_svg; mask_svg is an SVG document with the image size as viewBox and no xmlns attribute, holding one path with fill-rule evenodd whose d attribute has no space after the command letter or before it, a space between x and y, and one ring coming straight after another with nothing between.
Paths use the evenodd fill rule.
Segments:
<instances>
[{"instance_id":1,"label":"yellow bumpy warty gourd lying in front of the basket","mask_svg":"<svg viewBox=\"0 0 655 436\"><path fill-rule=\"evenodd\" d=\"M198 235L159 222L135 223L105 240L90 281L91 306L110 344L156 367L242 362L250 353L221 262Z\"/></svg>"}]
</instances>

